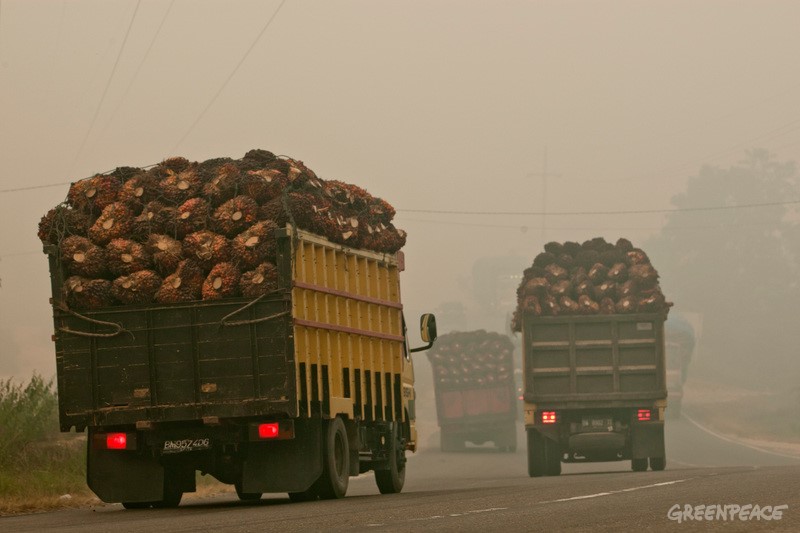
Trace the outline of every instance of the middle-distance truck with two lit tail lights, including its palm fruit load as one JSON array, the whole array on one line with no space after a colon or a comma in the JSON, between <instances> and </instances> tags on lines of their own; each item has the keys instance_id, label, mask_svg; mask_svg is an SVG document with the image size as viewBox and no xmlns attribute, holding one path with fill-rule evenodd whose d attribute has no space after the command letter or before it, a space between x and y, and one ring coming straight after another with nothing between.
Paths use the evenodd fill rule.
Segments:
<instances>
[{"instance_id":1,"label":"middle-distance truck with two lit tail lights, including its palm fruit load","mask_svg":"<svg viewBox=\"0 0 800 533\"><path fill-rule=\"evenodd\" d=\"M627 239L551 242L525 270L512 329L522 333L530 476L559 475L562 462L664 469L672 304L658 277Z\"/></svg>"}]
</instances>

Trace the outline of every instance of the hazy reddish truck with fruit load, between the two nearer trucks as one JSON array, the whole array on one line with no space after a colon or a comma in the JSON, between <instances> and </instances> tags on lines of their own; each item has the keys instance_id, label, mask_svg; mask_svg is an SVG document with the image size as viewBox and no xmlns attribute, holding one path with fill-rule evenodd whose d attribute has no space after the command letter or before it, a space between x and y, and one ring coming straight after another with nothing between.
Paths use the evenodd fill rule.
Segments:
<instances>
[{"instance_id":1,"label":"hazy reddish truck with fruit load, between the two nearer trucks","mask_svg":"<svg viewBox=\"0 0 800 533\"><path fill-rule=\"evenodd\" d=\"M442 335L428 351L443 452L468 442L516 451L513 350L507 335L476 330Z\"/></svg>"}]
</instances>

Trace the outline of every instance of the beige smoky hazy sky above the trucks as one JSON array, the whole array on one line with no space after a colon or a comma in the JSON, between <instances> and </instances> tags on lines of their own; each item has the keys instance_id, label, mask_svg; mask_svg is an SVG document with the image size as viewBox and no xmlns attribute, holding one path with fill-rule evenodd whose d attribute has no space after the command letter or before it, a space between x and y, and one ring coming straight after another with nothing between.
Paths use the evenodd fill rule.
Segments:
<instances>
[{"instance_id":1,"label":"beige smoky hazy sky above the trucks","mask_svg":"<svg viewBox=\"0 0 800 533\"><path fill-rule=\"evenodd\" d=\"M70 180L290 155L397 207L407 308L469 304L474 261L530 262L542 217L408 210L541 211L545 151L550 212L668 208L747 148L797 159L798 21L768 0L0 0L0 377L54 373L36 226ZM547 238L662 223L553 215Z\"/></svg>"}]
</instances>

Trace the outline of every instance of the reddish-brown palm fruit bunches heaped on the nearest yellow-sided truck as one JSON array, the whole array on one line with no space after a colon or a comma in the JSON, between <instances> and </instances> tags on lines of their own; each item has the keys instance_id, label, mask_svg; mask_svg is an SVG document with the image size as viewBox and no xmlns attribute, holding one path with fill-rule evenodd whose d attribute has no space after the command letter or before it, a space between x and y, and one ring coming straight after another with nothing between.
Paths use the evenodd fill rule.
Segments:
<instances>
[{"instance_id":1,"label":"reddish-brown palm fruit bunches heaped on the nearest yellow-sided truck","mask_svg":"<svg viewBox=\"0 0 800 533\"><path fill-rule=\"evenodd\" d=\"M65 300L96 309L263 296L279 289L281 228L393 254L406 240L394 215L362 187L255 149L241 159L173 157L76 181L42 217L38 236L60 278L70 279Z\"/></svg>"}]
</instances>

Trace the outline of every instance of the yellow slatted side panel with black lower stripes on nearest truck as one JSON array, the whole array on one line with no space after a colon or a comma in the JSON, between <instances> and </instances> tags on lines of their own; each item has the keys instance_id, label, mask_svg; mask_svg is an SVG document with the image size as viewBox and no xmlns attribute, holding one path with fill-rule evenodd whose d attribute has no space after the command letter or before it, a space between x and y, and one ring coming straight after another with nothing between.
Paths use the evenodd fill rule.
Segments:
<instances>
[{"instance_id":1,"label":"yellow slatted side panel with black lower stripes on nearest truck","mask_svg":"<svg viewBox=\"0 0 800 533\"><path fill-rule=\"evenodd\" d=\"M403 420L400 268L395 254L292 238L298 413Z\"/></svg>"}]
</instances>

